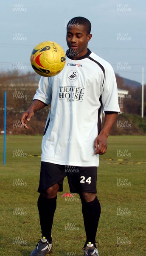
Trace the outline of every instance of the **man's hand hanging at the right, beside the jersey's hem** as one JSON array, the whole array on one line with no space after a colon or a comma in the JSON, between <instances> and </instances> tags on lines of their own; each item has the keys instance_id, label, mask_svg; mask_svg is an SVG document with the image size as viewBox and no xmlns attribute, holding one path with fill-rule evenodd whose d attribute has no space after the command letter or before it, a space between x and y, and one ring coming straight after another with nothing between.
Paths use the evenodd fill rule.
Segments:
<instances>
[{"instance_id":1,"label":"man's hand hanging at the right, beside the jersey's hem","mask_svg":"<svg viewBox=\"0 0 146 256\"><path fill-rule=\"evenodd\" d=\"M94 141L95 155L105 154L107 151L107 137L99 134Z\"/></svg>"}]
</instances>

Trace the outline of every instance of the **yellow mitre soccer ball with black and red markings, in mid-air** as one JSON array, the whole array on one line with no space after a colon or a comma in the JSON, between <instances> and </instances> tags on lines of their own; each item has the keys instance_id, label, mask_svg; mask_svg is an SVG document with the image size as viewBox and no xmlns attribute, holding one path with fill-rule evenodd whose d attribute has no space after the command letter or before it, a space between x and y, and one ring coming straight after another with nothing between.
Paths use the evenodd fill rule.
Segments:
<instances>
[{"instance_id":1,"label":"yellow mitre soccer ball with black and red markings, in mid-air","mask_svg":"<svg viewBox=\"0 0 146 256\"><path fill-rule=\"evenodd\" d=\"M31 66L41 76L56 76L65 66L63 48L52 41L37 44L31 53Z\"/></svg>"}]
</instances>

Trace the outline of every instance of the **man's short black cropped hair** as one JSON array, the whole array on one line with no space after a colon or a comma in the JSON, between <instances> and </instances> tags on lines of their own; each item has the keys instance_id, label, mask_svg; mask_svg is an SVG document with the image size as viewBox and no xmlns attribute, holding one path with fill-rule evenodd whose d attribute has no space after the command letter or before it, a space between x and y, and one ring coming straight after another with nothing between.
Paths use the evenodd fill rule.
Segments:
<instances>
[{"instance_id":1,"label":"man's short black cropped hair","mask_svg":"<svg viewBox=\"0 0 146 256\"><path fill-rule=\"evenodd\" d=\"M71 24L71 25L70 25ZM74 17L74 18L72 18L71 20L69 20L68 21L68 23L67 23L67 28L69 27L69 26L73 26L73 24L75 25L83 25L84 27L85 27L85 29L86 29L86 31L87 31L87 35L89 35L90 34L90 32L91 32L91 23L90 23L90 21L89 20L87 20L86 18L84 18L84 17Z\"/></svg>"}]
</instances>

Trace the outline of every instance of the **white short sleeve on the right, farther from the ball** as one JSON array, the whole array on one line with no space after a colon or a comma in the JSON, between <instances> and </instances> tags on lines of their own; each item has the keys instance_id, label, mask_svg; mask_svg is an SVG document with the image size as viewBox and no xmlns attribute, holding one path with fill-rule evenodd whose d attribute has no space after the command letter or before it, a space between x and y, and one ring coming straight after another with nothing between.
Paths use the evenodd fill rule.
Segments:
<instances>
[{"instance_id":1,"label":"white short sleeve on the right, farther from the ball","mask_svg":"<svg viewBox=\"0 0 146 256\"><path fill-rule=\"evenodd\" d=\"M120 112L120 108L118 105L118 88L115 73L109 63L105 68L105 79L101 89L101 96L104 112Z\"/></svg>"}]
</instances>

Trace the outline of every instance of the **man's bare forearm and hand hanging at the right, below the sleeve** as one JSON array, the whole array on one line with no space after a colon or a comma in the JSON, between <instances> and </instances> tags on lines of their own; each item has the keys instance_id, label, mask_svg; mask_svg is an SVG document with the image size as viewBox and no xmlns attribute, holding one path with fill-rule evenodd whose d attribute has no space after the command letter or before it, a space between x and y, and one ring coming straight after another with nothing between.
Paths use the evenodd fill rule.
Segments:
<instances>
[{"instance_id":1,"label":"man's bare forearm and hand hanging at the right, below the sleeve","mask_svg":"<svg viewBox=\"0 0 146 256\"><path fill-rule=\"evenodd\" d=\"M105 114L104 126L100 134L95 138L94 147L96 154L105 154L107 151L107 137L117 119L117 113Z\"/></svg>"}]
</instances>

